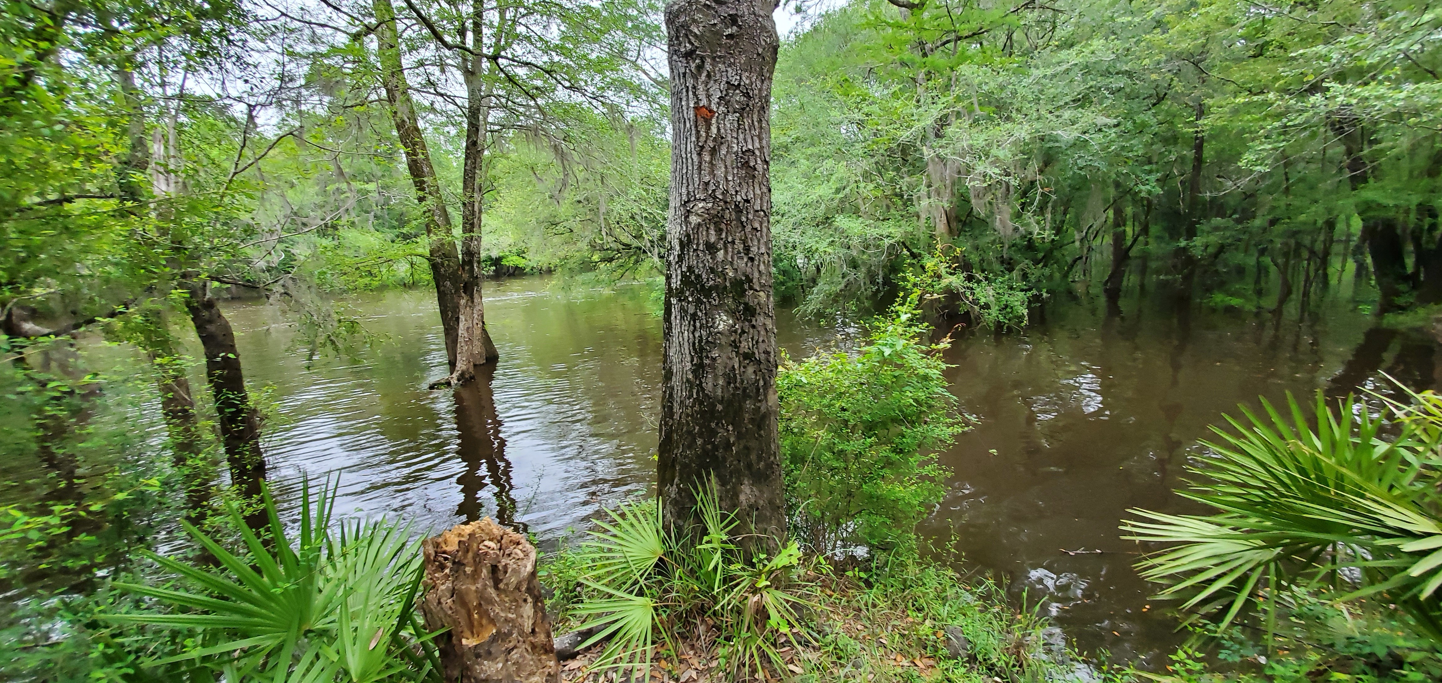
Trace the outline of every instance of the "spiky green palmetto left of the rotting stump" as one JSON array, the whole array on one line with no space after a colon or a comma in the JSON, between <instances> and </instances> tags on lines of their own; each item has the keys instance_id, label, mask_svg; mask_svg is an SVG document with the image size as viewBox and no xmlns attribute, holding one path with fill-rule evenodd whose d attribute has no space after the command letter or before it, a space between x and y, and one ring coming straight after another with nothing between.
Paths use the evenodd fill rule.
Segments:
<instances>
[{"instance_id":1,"label":"spiky green palmetto left of the rotting stump","mask_svg":"<svg viewBox=\"0 0 1442 683\"><path fill-rule=\"evenodd\" d=\"M245 552L236 555L190 524L186 530L218 569L153 555L183 588L120 584L170 611L117 621L199 631L199 647L154 666L225 671L226 680L320 683L440 680L438 660L414 614L420 540L386 520L332 529L335 493L303 490L296 536L286 533L270 491L262 496L270 539L229 504Z\"/></svg>"}]
</instances>

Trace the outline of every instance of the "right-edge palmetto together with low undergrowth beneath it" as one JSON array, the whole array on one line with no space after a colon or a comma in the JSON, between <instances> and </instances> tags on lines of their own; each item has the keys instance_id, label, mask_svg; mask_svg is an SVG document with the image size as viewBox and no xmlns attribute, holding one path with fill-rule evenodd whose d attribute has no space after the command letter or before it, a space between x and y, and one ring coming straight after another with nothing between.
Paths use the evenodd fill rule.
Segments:
<instances>
[{"instance_id":1,"label":"right-edge palmetto together with low undergrowth beneath it","mask_svg":"<svg viewBox=\"0 0 1442 683\"><path fill-rule=\"evenodd\" d=\"M1165 680L1442 680L1442 396L1407 393L1243 406L1178 491L1211 513L1132 510L1198 633Z\"/></svg>"}]
</instances>

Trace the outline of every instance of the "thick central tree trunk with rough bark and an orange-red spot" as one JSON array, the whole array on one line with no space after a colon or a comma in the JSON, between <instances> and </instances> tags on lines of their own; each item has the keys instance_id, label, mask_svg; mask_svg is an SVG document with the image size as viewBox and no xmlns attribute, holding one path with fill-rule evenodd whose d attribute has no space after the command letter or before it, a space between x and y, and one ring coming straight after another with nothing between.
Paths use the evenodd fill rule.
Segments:
<instances>
[{"instance_id":1,"label":"thick central tree trunk with rough bark and an orange-red spot","mask_svg":"<svg viewBox=\"0 0 1442 683\"><path fill-rule=\"evenodd\" d=\"M715 477L748 546L786 532L771 301L770 0L672 0L659 488L689 529ZM764 543L763 543L764 545Z\"/></svg>"}]
</instances>

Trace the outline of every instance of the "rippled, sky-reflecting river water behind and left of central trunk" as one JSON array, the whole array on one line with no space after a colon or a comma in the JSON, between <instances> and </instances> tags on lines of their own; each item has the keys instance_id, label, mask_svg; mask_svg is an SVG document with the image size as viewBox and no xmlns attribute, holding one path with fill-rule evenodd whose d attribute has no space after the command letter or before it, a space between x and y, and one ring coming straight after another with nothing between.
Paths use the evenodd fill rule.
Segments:
<instances>
[{"instance_id":1,"label":"rippled, sky-reflecting river water behind and left of central trunk","mask_svg":"<svg viewBox=\"0 0 1442 683\"><path fill-rule=\"evenodd\" d=\"M226 305L247 379L270 386L262 448L271 478L290 493L301 476L339 476L340 510L399 513L424 527L489 514L555 540L655 478L660 318L652 290L487 282L500 363L490 382L454 393L425 389L446 375L434 294L340 304L381 342L309 363L281 311ZM792 353L831 337L782 316Z\"/></svg>"}]
</instances>

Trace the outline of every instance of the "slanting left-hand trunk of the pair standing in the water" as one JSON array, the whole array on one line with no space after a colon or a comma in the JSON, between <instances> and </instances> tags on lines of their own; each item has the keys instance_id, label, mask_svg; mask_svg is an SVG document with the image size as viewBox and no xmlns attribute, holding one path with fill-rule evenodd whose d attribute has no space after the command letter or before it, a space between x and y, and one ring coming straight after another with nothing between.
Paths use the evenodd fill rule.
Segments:
<instances>
[{"instance_id":1,"label":"slanting left-hand trunk of the pair standing in the water","mask_svg":"<svg viewBox=\"0 0 1442 683\"><path fill-rule=\"evenodd\" d=\"M431 166L431 151L421 134L421 120L411 101L411 89L405 82L401 65L401 46L395 30L395 7L391 0L375 0L376 61L381 65L381 84L385 99L391 105L391 120L395 135L405 150L405 167L415 186L415 202L425 210L425 235L430 241L428 261L431 280L435 281L435 303L441 314L441 330L446 334L446 359L451 372L456 370L456 350L460 334L460 259L456 255L451 235L450 212L441 197L435 167Z\"/></svg>"}]
</instances>

